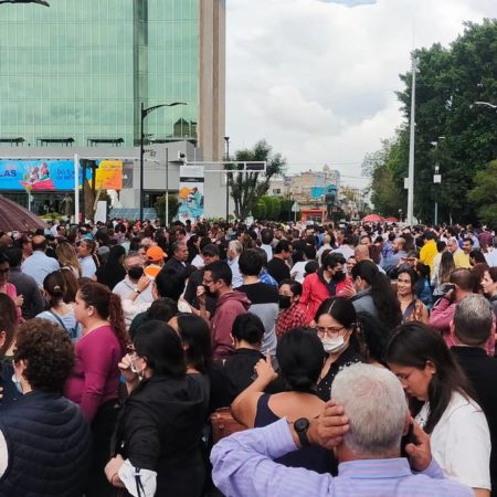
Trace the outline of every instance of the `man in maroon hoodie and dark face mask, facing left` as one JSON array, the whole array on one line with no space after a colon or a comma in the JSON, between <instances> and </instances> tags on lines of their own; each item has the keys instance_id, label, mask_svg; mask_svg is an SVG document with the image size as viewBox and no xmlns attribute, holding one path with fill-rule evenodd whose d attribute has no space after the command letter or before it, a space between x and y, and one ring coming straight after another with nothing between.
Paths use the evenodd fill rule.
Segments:
<instances>
[{"instance_id":1,"label":"man in maroon hoodie and dark face mask, facing left","mask_svg":"<svg viewBox=\"0 0 497 497\"><path fill-rule=\"evenodd\" d=\"M213 262L204 268L203 286L197 289L201 316L208 319L205 308L207 292L215 295L218 304L211 320L212 351L214 359L223 359L234 350L231 330L236 316L248 310L251 302L242 292L231 287L230 266L222 261Z\"/></svg>"}]
</instances>

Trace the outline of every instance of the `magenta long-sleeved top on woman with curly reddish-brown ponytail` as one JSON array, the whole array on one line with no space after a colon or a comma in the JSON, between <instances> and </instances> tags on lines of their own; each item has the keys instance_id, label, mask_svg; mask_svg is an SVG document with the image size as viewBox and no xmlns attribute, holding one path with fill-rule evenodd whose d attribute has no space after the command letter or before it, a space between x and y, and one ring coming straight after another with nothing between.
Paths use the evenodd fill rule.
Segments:
<instances>
[{"instance_id":1,"label":"magenta long-sleeved top on woman with curly reddish-brown ponytail","mask_svg":"<svg viewBox=\"0 0 497 497\"><path fill-rule=\"evenodd\" d=\"M119 340L110 326L102 326L83 336L75 345L76 363L65 385L65 396L80 404L92 421L98 408L119 396L123 358Z\"/></svg>"}]
</instances>

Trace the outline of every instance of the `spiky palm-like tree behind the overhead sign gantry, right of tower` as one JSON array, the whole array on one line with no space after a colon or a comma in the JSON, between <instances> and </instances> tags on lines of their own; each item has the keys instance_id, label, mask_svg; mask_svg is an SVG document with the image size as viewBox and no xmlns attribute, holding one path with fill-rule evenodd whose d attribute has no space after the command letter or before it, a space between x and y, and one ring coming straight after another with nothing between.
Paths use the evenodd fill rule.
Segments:
<instances>
[{"instance_id":1,"label":"spiky palm-like tree behind the overhead sign gantry, right of tower","mask_svg":"<svg viewBox=\"0 0 497 497\"><path fill-rule=\"evenodd\" d=\"M267 193L272 178L284 172L286 160L281 154L273 154L273 148L266 140L260 140L253 149L243 149L235 152L234 162L266 161L266 173L258 171L247 173L236 172L236 165L229 167L233 172L229 175L231 197L235 204L235 215L245 219L262 195Z\"/></svg>"}]
</instances>

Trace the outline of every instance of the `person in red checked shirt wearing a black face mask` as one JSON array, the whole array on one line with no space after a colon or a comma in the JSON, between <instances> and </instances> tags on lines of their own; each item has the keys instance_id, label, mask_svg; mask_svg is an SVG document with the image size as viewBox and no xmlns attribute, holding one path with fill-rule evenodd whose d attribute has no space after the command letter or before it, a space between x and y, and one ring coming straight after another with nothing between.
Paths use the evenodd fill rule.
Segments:
<instances>
[{"instance_id":1,"label":"person in red checked shirt wearing a black face mask","mask_svg":"<svg viewBox=\"0 0 497 497\"><path fill-rule=\"evenodd\" d=\"M307 316L298 305L302 285L294 279L283 279L279 284L279 314L276 320L276 337L282 338L289 329L306 326Z\"/></svg>"}]
</instances>

